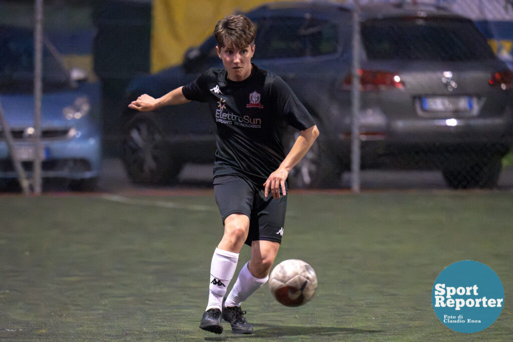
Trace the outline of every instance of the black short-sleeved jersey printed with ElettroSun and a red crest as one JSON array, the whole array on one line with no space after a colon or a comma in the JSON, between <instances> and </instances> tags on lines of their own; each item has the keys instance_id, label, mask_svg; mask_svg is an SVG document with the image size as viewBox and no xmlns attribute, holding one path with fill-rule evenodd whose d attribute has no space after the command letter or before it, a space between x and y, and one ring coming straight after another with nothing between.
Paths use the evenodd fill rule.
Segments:
<instances>
[{"instance_id":1,"label":"black short-sleeved jersey printed with ElettroSun and a red crest","mask_svg":"<svg viewBox=\"0 0 513 342\"><path fill-rule=\"evenodd\" d=\"M230 81L225 69L211 68L182 92L210 105L218 128L214 176L242 174L259 188L285 158L285 125L298 130L315 125L283 79L255 65L241 82Z\"/></svg>"}]
</instances>

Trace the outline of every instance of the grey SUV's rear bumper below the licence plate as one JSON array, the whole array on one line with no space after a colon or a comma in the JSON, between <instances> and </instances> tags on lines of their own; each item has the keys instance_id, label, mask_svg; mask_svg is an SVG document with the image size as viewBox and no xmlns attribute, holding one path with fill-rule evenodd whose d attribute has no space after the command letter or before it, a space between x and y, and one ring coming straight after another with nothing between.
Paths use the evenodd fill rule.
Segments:
<instances>
[{"instance_id":1,"label":"grey SUV's rear bumper below the licence plate","mask_svg":"<svg viewBox=\"0 0 513 342\"><path fill-rule=\"evenodd\" d=\"M350 167L350 134L330 142ZM511 120L503 118L396 120L362 128L362 169L439 169L449 164L502 157L513 146Z\"/></svg>"}]
</instances>

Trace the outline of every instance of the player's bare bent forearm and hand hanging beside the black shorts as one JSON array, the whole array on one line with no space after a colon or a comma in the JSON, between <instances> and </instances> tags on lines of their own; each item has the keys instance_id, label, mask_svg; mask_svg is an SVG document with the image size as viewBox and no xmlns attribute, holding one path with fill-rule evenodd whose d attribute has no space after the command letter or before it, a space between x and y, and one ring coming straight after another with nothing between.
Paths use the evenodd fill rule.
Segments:
<instances>
[{"instance_id":1,"label":"player's bare bent forearm and hand hanging beside the black shorts","mask_svg":"<svg viewBox=\"0 0 513 342\"><path fill-rule=\"evenodd\" d=\"M298 138L295 140L294 145L290 149L285 159L283 159L280 167L271 173L264 183L265 196L272 193L273 198L280 197L280 188L283 191L283 195L286 195L285 182L287 180L290 170L296 166L301 158L303 158L312 147L313 142L319 136L319 129L316 125L300 131Z\"/></svg>"}]
</instances>

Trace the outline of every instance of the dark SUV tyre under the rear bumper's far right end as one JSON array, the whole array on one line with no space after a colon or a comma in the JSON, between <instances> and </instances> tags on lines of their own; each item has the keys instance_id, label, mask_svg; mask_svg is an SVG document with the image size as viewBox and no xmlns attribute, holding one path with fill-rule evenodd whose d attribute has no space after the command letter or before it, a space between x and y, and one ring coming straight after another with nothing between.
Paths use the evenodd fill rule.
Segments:
<instances>
[{"instance_id":1,"label":"dark SUV tyre under the rear bumper's far right end","mask_svg":"<svg viewBox=\"0 0 513 342\"><path fill-rule=\"evenodd\" d=\"M502 163L500 157L483 158L477 162L442 170L445 183L453 189L497 187Z\"/></svg>"}]
</instances>

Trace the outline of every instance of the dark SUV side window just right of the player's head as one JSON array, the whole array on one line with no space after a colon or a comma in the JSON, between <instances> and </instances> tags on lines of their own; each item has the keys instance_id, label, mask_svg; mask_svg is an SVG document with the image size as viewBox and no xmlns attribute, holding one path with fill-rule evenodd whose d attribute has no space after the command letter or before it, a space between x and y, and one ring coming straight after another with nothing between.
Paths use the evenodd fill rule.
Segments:
<instances>
[{"instance_id":1,"label":"dark SUV side window just right of the player's head","mask_svg":"<svg viewBox=\"0 0 513 342\"><path fill-rule=\"evenodd\" d=\"M257 21L255 57L290 58L337 52L337 26L312 18L272 17Z\"/></svg>"}]
</instances>

